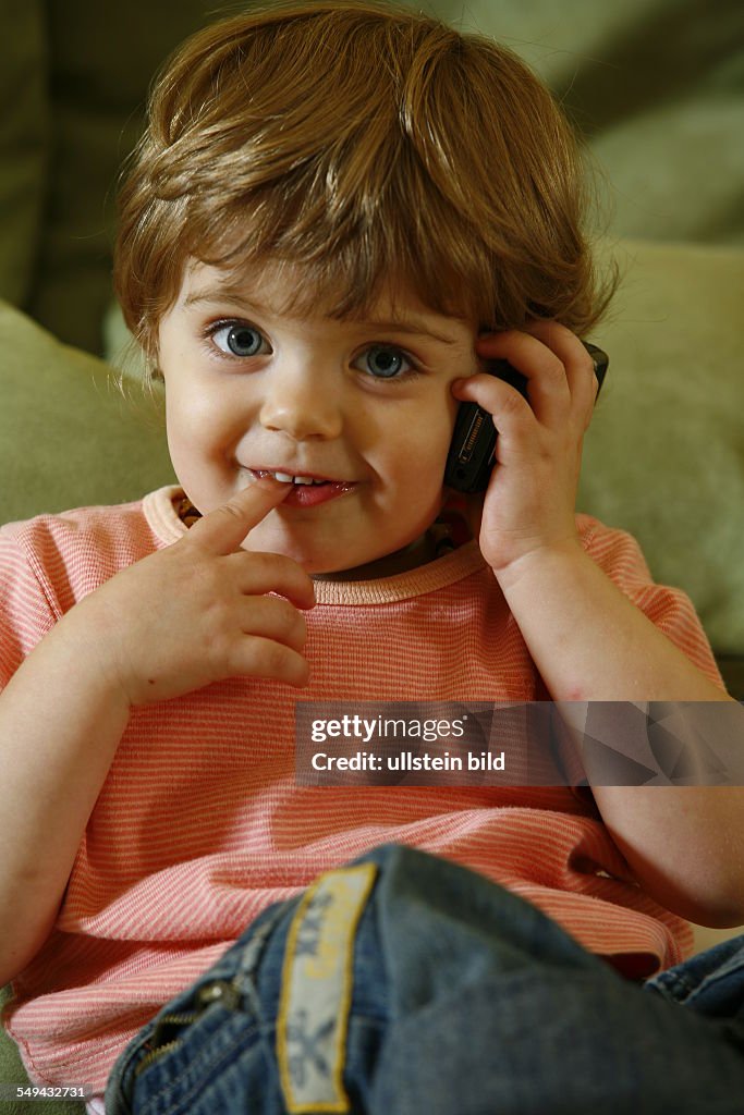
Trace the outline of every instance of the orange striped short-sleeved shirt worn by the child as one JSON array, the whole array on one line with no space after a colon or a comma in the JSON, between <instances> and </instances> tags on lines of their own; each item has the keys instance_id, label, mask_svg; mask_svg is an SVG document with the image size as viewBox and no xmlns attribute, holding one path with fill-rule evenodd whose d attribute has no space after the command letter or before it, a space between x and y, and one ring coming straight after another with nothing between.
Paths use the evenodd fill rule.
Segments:
<instances>
[{"instance_id":1,"label":"orange striped short-sleeved shirt worn by the child","mask_svg":"<svg viewBox=\"0 0 744 1115\"><path fill-rule=\"evenodd\" d=\"M0 686L76 601L183 535L180 494L0 530ZM591 558L721 683L687 597L653 583L630 535L578 525ZM317 581L316 598L302 700L548 696L475 542L385 580ZM504 884L621 970L689 951L689 927L642 893L570 787L298 786L297 699L234 678L133 711L55 928L15 980L6 1025L31 1079L103 1090L141 1026L261 910L390 841Z\"/></svg>"}]
</instances>

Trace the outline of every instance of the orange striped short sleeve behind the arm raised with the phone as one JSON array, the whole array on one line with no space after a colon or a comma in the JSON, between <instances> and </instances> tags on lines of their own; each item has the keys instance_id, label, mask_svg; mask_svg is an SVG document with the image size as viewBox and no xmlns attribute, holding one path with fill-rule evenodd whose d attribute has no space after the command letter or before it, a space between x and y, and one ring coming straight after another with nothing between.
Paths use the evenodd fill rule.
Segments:
<instances>
[{"instance_id":1,"label":"orange striped short sleeve behind the arm raised with the phone","mask_svg":"<svg viewBox=\"0 0 744 1115\"><path fill-rule=\"evenodd\" d=\"M581 542L611 581L714 685L725 689L695 607L682 589L656 584L640 546L627 531L578 516Z\"/></svg>"}]
</instances>

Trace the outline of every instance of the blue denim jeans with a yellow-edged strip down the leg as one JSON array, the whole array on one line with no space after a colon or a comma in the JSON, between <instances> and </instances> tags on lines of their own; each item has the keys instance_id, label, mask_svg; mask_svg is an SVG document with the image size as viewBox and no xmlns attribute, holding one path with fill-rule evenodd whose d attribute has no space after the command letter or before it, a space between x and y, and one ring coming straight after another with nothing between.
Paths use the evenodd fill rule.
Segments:
<instances>
[{"instance_id":1,"label":"blue denim jeans with a yellow-edged strip down the leg","mask_svg":"<svg viewBox=\"0 0 744 1115\"><path fill-rule=\"evenodd\" d=\"M620 977L481 875L384 845L267 910L118 1059L108 1115L744 1112L744 938Z\"/></svg>"}]
</instances>

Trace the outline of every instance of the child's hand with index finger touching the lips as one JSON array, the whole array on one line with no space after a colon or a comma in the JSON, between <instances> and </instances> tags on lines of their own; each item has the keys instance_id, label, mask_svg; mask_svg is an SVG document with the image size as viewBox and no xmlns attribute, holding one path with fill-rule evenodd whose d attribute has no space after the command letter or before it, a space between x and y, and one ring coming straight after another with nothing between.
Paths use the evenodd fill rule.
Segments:
<instances>
[{"instance_id":1,"label":"child's hand with index finger touching the lips","mask_svg":"<svg viewBox=\"0 0 744 1115\"><path fill-rule=\"evenodd\" d=\"M251 484L178 542L117 573L58 627L85 633L90 665L131 706L236 676L307 685L298 608L313 607L312 581L290 558L240 547L289 491Z\"/></svg>"}]
</instances>

